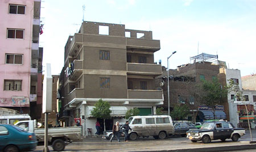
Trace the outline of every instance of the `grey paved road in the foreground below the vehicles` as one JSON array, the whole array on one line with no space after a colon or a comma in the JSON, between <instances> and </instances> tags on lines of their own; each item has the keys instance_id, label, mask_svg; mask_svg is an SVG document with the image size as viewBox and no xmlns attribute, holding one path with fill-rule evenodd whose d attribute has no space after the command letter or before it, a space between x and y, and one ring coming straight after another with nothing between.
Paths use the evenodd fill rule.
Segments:
<instances>
[{"instance_id":1,"label":"grey paved road in the foreground below the vehicles","mask_svg":"<svg viewBox=\"0 0 256 152\"><path fill-rule=\"evenodd\" d=\"M253 136L256 140L256 130L253 130ZM150 150L173 150L173 149L192 149L192 148L210 148L216 146L234 146L245 145L250 141L249 130L246 130L246 135L240 138L238 142L232 140L226 140L222 142L220 140L212 141L212 143L204 144L202 142L193 143L185 137L172 137L165 140L154 140L154 138L139 138L135 141L117 142L113 140L110 143L108 140L101 138L85 138L83 142L73 142L66 146L65 151L150 151ZM49 147L52 151L52 148ZM36 151L42 151L43 146L38 146Z\"/></svg>"}]
</instances>

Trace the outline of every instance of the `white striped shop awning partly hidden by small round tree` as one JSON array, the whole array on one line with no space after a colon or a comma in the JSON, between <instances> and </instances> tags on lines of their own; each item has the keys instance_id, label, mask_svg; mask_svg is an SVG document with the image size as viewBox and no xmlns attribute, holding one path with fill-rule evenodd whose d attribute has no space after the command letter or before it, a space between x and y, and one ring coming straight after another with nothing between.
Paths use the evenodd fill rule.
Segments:
<instances>
[{"instance_id":1,"label":"white striped shop awning partly hidden by small round tree","mask_svg":"<svg viewBox=\"0 0 256 152\"><path fill-rule=\"evenodd\" d=\"M93 111L93 108L95 108L95 106L93 105L87 105L86 106L86 117L93 117L92 116L92 111ZM125 106L111 106L109 108L112 113L110 113L110 116L112 117L124 117L126 112L127 112L127 107Z\"/></svg>"}]
</instances>

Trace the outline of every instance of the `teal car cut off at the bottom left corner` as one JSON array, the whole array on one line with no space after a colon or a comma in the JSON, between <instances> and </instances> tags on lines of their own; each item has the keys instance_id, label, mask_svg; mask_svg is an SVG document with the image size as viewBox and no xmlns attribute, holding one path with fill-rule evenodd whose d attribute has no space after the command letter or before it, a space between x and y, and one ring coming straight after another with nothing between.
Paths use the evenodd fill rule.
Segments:
<instances>
[{"instance_id":1,"label":"teal car cut off at the bottom left corner","mask_svg":"<svg viewBox=\"0 0 256 152\"><path fill-rule=\"evenodd\" d=\"M35 133L15 125L0 124L0 151L32 151L37 144Z\"/></svg>"}]
</instances>

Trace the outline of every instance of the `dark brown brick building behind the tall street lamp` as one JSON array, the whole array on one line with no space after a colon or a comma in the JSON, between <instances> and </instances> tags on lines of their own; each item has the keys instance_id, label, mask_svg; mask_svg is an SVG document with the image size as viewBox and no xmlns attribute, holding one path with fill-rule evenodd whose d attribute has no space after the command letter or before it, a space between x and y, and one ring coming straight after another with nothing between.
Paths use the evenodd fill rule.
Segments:
<instances>
[{"instance_id":1,"label":"dark brown brick building behind the tall street lamp","mask_svg":"<svg viewBox=\"0 0 256 152\"><path fill-rule=\"evenodd\" d=\"M169 70L171 110L177 104L187 104L191 110L196 111L200 103L195 99L195 86L202 84L203 81L212 81L217 78L218 73L219 66L207 61L181 65L177 69ZM167 71L164 70L163 74L156 78L158 79L156 87L162 83L164 92L164 104L161 107L164 108L164 111L168 111ZM192 116L188 116L188 119L191 120Z\"/></svg>"}]
</instances>

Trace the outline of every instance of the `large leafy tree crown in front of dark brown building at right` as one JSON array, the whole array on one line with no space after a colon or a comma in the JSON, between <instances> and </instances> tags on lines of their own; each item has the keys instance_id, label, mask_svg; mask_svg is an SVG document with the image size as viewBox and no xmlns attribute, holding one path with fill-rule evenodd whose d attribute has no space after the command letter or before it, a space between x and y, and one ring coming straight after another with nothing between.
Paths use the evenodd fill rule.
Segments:
<instances>
[{"instance_id":1,"label":"large leafy tree crown in front of dark brown building at right","mask_svg":"<svg viewBox=\"0 0 256 152\"><path fill-rule=\"evenodd\" d=\"M228 96L226 87L222 87L217 78L213 79L212 82L204 81L202 87L202 103L208 105L212 109L214 109L215 105L220 104L222 100Z\"/></svg>"}]
</instances>

